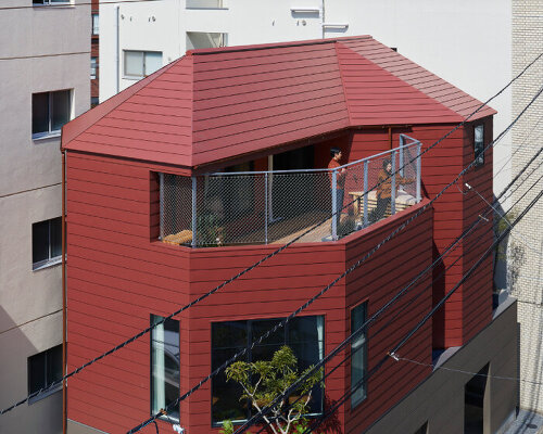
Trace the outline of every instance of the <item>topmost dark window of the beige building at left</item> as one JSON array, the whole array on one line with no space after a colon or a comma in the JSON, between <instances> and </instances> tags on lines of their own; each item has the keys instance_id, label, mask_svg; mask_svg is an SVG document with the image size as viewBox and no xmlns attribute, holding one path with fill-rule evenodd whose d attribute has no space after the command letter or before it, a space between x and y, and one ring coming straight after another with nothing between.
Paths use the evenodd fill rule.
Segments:
<instances>
[{"instance_id":1,"label":"topmost dark window of the beige building at left","mask_svg":"<svg viewBox=\"0 0 543 434\"><path fill-rule=\"evenodd\" d=\"M33 139L60 133L71 115L71 90L33 93Z\"/></svg>"}]
</instances>

